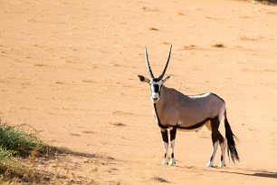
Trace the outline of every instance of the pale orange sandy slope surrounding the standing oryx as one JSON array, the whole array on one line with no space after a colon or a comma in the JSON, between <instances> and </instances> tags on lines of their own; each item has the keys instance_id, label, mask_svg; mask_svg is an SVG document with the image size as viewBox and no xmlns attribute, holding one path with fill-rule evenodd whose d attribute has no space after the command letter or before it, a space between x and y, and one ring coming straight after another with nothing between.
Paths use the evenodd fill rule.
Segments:
<instances>
[{"instance_id":1,"label":"pale orange sandy slope surrounding the standing oryx","mask_svg":"<svg viewBox=\"0 0 277 185\"><path fill-rule=\"evenodd\" d=\"M228 0L0 1L0 117L79 152L42 164L64 183L275 184L276 19L276 6ZM177 132L177 165L160 165L137 75L148 75L143 46L158 75L168 44L167 86L224 98L241 162L205 168L204 128Z\"/></svg>"}]
</instances>

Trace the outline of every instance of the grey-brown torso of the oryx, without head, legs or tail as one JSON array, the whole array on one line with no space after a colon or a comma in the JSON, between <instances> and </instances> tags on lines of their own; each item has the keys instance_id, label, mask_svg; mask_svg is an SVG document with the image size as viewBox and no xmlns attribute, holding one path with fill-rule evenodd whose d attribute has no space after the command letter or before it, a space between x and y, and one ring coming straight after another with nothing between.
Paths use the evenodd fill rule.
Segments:
<instances>
[{"instance_id":1,"label":"grey-brown torso of the oryx, without head, legs or tail","mask_svg":"<svg viewBox=\"0 0 277 185\"><path fill-rule=\"evenodd\" d=\"M216 106L215 106L216 105ZM156 110L162 126L177 126L186 130L200 129L205 122L224 115L224 102L214 93L186 96L162 86Z\"/></svg>"}]
</instances>

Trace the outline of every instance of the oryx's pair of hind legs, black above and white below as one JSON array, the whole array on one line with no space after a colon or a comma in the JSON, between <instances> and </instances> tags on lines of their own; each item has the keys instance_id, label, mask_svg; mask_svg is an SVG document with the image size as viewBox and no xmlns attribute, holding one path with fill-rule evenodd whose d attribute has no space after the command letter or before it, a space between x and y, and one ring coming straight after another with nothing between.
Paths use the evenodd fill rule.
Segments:
<instances>
[{"instance_id":1,"label":"oryx's pair of hind legs, black above and white below","mask_svg":"<svg viewBox=\"0 0 277 185\"><path fill-rule=\"evenodd\" d=\"M210 161L208 161L208 163L206 165L207 167L214 166L215 153L216 153L218 144L220 144L221 151L222 151L221 162L220 162L219 166L224 167L224 165L225 165L225 161L224 161L224 151L225 151L224 137L218 131L219 124L220 124L220 121L219 121L218 117L216 117L216 118L214 118L210 121L209 125L207 125L208 129L210 131L212 131L212 141L213 141L213 152L212 152L212 156L210 158Z\"/></svg>"}]
</instances>

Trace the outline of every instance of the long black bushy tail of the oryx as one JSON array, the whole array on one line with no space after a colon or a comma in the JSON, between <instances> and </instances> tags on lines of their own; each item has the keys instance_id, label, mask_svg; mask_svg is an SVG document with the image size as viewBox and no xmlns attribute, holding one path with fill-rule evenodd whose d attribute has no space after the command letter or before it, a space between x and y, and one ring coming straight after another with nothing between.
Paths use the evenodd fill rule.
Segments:
<instances>
[{"instance_id":1,"label":"long black bushy tail of the oryx","mask_svg":"<svg viewBox=\"0 0 277 185\"><path fill-rule=\"evenodd\" d=\"M240 157L238 156L238 153L235 149L235 143L234 143L234 139L237 140L237 138L234 136L234 133L231 130L230 124L227 120L226 110L224 112L224 126L225 126L225 137L227 139L228 156L230 157L230 155L231 155L232 161L234 161L234 160L240 161Z\"/></svg>"}]
</instances>

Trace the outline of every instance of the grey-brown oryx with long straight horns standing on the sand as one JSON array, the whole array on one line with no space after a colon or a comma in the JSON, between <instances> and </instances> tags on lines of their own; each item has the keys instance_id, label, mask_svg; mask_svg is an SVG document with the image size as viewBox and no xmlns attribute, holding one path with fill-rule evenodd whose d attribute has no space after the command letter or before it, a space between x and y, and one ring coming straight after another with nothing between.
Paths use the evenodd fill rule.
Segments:
<instances>
[{"instance_id":1,"label":"grey-brown oryx with long straight horns standing on the sand","mask_svg":"<svg viewBox=\"0 0 277 185\"><path fill-rule=\"evenodd\" d=\"M169 63L172 45L170 45L167 63L164 66L163 72L156 78L152 73L148 62L148 51L145 47L145 59L148 67L150 79L138 75L139 80L150 85L151 102L153 102L153 115L155 117L162 134L165 159L163 164L173 165L174 146L177 129L184 131L198 131L204 125L212 132L213 152L207 167L212 167L215 159L215 152L218 144L221 147L221 162L220 167L225 166L224 153L225 142L224 137L218 131L220 121L224 118L225 137L227 140L227 152L231 154L231 159L239 161L238 153L235 149L234 134L226 117L225 102L215 93L204 93L201 95L187 96L178 92L173 88L167 88L164 84L169 79L170 75L164 78ZM170 133L170 138L168 137ZM171 156L168 161L168 141L170 139Z\"/></svg>"}]
</instances>

